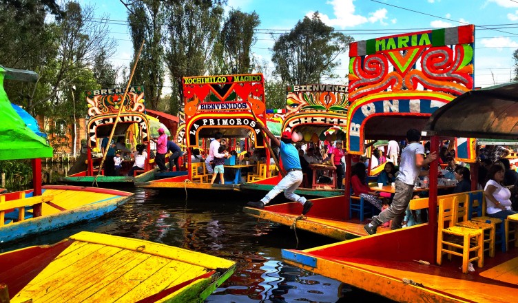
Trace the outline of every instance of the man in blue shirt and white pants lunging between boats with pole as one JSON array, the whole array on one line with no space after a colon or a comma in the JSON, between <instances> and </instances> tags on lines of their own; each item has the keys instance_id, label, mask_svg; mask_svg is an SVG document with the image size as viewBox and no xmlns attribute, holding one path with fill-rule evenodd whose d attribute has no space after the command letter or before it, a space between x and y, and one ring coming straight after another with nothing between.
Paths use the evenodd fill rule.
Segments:
<instances>
[{"instance_id":1,"label":"man in blue shirt and white pants lunging between boats with pole","mask_svg":"<svg viewBox=\"0 0 518 303\"><path fill-rule=\"evenodd\" d=\"M271 191L262 198L260 201L251 201L247 205L262 209L265 205L270 202L271 199L275 198L278 194L284 191L284 196L289 200L299 202L302 204L302 214L305 215L309 212L313 206L313 202L306 200L306 198L295 194L295 190L299 187L302 182L302 168L300 166L300 159L298 157L298 151L291 141L291 132L283 132L280 141L271 134L269 129L265 127L261 121L258 121L258 127L264 132L271 140L271 144L280 147L280 158L282 161L282 167L286 169L287 175L280 180L278 185L273 187Z\"/></svg>"}]
</instances>

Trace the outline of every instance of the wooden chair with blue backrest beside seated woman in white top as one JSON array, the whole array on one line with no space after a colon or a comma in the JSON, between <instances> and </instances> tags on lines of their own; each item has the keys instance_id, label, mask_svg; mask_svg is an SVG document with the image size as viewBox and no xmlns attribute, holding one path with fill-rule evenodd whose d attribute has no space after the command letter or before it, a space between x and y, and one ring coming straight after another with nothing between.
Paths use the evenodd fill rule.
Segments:
<instances>
[{"instance_id":1,"label":"wooden chair with blue backrest beside seated woman in white top","mask_svg":"<svg viewBox=\"0 0 518 303\"><path fill-rule=\"evenodd\" d=\"M486 197L484 191L468 193L468 220L491 224L495 229L495 247L500 245L501 251L507 251L506 230L502 220L486 216ZM475 214L475 216L473 216Z\"/></svg>"}]
</instances>

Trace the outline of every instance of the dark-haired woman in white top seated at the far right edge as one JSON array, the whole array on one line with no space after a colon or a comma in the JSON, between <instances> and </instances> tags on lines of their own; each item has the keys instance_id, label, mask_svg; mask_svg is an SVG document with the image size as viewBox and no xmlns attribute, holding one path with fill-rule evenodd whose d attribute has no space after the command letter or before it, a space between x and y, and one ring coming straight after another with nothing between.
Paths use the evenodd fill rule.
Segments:
<instances>
[{"instance_id":1,"label":"dark-haired woman in white top seated at the far right edge","mask_svg":"<svg viewBox=\"0 0 518 303\"><path fill-rule=\"evenodd\" d=\"M491 165L488 171L488 181L484 188L486 196L486 213L493 218L505 220L507 216L517 213L511 208L511 192L504 187L504 167Z\"/></svg>"}]
</instances>

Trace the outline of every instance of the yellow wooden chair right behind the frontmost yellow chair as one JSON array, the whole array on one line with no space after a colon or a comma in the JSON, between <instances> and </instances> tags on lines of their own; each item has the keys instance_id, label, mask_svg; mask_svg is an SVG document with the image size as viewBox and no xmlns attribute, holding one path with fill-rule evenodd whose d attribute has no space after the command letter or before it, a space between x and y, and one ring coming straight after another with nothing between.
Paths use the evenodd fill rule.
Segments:
<instances>
[{"instance_id":1,"label":"yellow wooden chair right behind the frontmost yellow chair","mask_svg":"<svg viewBox=\"0 0 518 303\"><path fill-rule=\"evenodd\" d=\"M457 195L459 207L457 207L457 218L459 222L455 224L458 227L466 227L468 229L481 229L484 232L484 243L488 244L488 248L484 251L489 251L489 256L495 256L495 226L486 222L479 222L468 220L468 194Z\"/></svg>"}]
</instances>

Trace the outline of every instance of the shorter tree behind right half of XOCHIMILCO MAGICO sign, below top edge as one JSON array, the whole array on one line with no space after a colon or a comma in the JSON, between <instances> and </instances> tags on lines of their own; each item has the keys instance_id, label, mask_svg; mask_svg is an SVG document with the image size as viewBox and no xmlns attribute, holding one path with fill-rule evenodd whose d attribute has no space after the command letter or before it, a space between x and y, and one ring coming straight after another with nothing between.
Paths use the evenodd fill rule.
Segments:
<instances>
[{"instance_id":1,"label":"shorter tree behind right half of XOCHIMILCO MAGICO sign, below top edge","mask_svg":"<svg viewBox=\"0 0 518 303\"><path fill-rule=\"evenodd\" d=\"M252 70L250 48L257 41L254 36L260 25L256 12L248 14L231 10L220 32L216 56L220 56L222 66L218 74L249 74ZM216 67L217 68L217 67Z\"/></svg>"}]
</instances>

